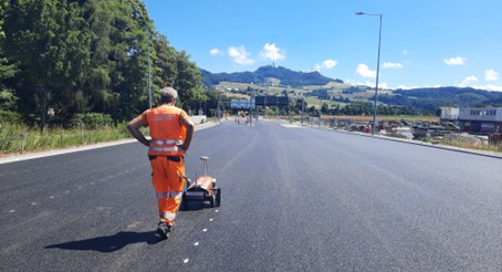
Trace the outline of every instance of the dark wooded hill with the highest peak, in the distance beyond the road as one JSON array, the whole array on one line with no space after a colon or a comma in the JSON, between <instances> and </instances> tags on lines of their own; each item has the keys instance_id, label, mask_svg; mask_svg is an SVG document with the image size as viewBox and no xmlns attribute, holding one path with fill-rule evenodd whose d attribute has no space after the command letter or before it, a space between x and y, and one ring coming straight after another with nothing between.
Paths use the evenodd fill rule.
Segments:
<instances>
[{"instance_id":1,"label":"dark wooded hill with the highest peak, in the distance beyond the road","mask_svg":"<svg viewBox=\"0 0 502 272\"><path fill-rule=\"evenodd\" d=\"M200 69L205 86L218 85L220 82L238 82L270 84L271 79L279 80L280 85L301 87L307 85L325 85L330 82L344 83L342 80L333 80L320 74L318 72L295 72L282 66L272 65L261 66L254 72L236 73L211 73Z\"/></svg>"}]
</instances>

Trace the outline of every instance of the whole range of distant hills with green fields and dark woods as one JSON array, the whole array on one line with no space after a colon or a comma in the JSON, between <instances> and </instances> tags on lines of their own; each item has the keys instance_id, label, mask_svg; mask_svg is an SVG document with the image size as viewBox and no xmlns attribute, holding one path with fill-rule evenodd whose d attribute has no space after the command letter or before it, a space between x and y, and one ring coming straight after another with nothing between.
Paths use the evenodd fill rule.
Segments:
<instances>
[{"instance_id":1,"label":"whole range of distant hills with green fields and dark woods","mask_svg":"<svg viewBox=\"0 0 502 272\"><path fill-rule=\"evenodd\" d=\"M206 86L227 96L282 95L293 101L306 97L308 108L323 108L326 113L347 107L348 113L367 114L374 106L374 88L345 84L317 72L294 72L269 65L255 72L211 74L202 70L201 74ZM379 90L377 102L381 114L435 115L441 106L502 106L502 92L470 87Z\"/></svg>"}]
</instances>

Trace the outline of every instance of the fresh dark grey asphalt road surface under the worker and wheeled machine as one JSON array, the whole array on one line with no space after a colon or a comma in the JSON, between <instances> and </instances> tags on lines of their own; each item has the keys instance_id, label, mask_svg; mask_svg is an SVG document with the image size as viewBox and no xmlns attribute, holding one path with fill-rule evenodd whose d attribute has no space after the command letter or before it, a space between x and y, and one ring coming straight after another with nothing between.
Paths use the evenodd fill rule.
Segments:
<instances>
[{"instance_id":1,"label":"fresh dark grey asphalt road surface under the worker and wheeled machine","mask_svg":"<svg viewBox=\"0 0 502 272\"><path fill-rule=\"evenodd\" d=\"M137 143L0 165L0 271L502 271L502 160L259 121L197 132L222 188L167 241Z\"/></svg>"}]
</instances>

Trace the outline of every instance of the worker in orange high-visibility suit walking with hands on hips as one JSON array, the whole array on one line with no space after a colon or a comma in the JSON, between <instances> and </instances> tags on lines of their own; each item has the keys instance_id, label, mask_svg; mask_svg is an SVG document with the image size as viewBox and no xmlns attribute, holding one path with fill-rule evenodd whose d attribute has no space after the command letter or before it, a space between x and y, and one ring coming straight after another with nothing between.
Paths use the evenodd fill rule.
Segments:
<instances>
[{"instance_id":1,"label":"worker in orange high-visibility suit walking with hands on hips","mask_svg":"<svg viewBox=\"0 0 502 272\"><path fill-rule=\"evenodd\" d=\"M194 122L187 113L176 107L178 92L172 87L160 91L160 105L145 111L127 125L133 136L148 146L151 166L151 182L157 193L160 222L157 232L163 239L169 238L176 213L181 202L185 177L185 153L194 137ZM139 130L148 127L151 139Z\"/></svg>"}]
</instances>

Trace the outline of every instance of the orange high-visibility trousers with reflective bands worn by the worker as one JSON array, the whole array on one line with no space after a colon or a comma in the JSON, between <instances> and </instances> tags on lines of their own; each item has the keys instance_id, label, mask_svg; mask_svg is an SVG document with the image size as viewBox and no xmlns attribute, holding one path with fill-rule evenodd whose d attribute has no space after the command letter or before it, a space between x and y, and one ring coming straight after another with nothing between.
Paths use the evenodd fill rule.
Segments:
<instances>
[{"instance_id":1,"label":"orange high-visibility trousers with reflective bands worn by the worker","mask_svg":"<svg viewBox=\"0 0 502 272\"><path fill-rule=\"evenodd\" d=\"M171 157L172 158L172 157ZM181 203L185 186L185 164L181 157L150 157L151 182L155 187L160 221L174 226L176 213Z\"/></svg>"}]
</instances>

